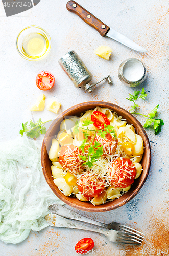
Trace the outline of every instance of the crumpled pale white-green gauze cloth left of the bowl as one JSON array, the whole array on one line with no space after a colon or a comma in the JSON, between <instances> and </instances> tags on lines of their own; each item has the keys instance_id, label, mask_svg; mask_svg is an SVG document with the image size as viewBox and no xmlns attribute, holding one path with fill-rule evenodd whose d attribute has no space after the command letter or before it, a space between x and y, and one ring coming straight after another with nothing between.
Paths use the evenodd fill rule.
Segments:
<instances>
[{"instance_id":1,"label":"crumpled pale white-green gauze cloth left of the bowl","mask_svg":"<svg viewBox=\"0 0 169 256\"><path fill-rule=\"evenodd\" d=\"M63 204L44 179L40 152L39 143L26 136L0 145L0 239L5 243L20 243L31 230L47 227L47 207Z\"/></svg>"}]
</instances>

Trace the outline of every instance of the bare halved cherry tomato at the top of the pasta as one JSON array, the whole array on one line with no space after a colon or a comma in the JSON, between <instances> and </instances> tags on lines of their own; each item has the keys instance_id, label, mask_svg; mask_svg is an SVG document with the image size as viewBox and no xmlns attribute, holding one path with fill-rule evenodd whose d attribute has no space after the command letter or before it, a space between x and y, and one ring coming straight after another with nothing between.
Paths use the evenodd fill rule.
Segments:
<instances>
[{"instance_id":1,"label":"bare halved cherry tomato at the top of the pasta","mask_svg":"<svg viewBox=\"0 0 169 256\"><path fill-rule=\"evenodd\" d=\"M94 111L91 115L91 121L94 122L94 126L98 129L104 129L104 124L107 126L110 124L109 119L105 114L100 111Z\"/></svg>"}]
</instances>

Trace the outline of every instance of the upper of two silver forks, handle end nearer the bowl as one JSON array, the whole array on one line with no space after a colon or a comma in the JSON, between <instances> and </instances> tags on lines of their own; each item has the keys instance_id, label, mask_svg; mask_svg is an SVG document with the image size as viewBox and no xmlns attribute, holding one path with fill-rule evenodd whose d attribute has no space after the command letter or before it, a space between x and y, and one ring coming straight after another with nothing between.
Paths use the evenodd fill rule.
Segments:
<instances>
[{"instance_id":1,"label":"upper of two silver forks, handle end nearer the bowl","mask_svg":"<svg viewBox=\"0 0 169 256\"><path fill-rule=\"evenodd\" d=\"M104 229L109 229L109 230L113 229L113 230L116 230L119 232L127 232L131 236L133 236L133 239L137 239L141 243L144 238L144 234L137 231L136 229L119 224L117 222L111 222L109 224L105 224L105 223L101 223L98 221L94 221L94 220L84 217L80 214L77 214L75 211L65 208L64 206L62 206L60 204L51 204L48 207L48 209L53 214L57 214L59 216L62 216L62 217L68 218L68 219L77 220L80 222L80 224L82 224L82 222L83 222L83 224L89 225L92 227L95 227L95 225L96 225L97 227L100 226L100 227L103 227Z\"/></svg>"}]
</instances>

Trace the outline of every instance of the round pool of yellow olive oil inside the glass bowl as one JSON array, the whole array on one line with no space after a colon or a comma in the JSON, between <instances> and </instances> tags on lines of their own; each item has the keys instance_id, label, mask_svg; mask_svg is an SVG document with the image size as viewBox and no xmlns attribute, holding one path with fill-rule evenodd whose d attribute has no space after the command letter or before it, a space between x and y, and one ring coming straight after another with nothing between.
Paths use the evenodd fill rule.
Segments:
<instances>
[{"instance_id":1,"label":"round pool of yellow olive oil inside the glass bowl","mask_svg":"<svg viewBox=\"0 0 169 256\"><path fill-rule=\"evenodd\" d=\"M39 57L46 50L46 40L42 34L30 33L23 39L22 49L29 57Z\"/></svg>"}]
</instances>

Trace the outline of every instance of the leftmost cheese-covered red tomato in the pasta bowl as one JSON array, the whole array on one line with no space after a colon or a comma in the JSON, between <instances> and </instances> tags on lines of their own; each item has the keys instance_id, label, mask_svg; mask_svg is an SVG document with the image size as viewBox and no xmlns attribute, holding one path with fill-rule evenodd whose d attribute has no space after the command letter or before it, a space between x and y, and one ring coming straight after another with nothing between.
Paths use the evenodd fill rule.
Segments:
<instances>
[{"instance_id":1,"label":"leftmost cheese-covered red tomato in the pasta bowl","mask_svg":"<svg viewBox=\"0 0 169 256\"><path fill-rule=\"evenodd\" d=\"M83 160L79 157L83 155L82 151L74 145L62 146L59 155L59 163L64 170L77 175L83 169Z\"/></svg>"}]
</instances>

